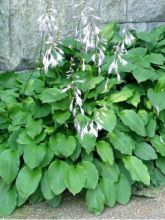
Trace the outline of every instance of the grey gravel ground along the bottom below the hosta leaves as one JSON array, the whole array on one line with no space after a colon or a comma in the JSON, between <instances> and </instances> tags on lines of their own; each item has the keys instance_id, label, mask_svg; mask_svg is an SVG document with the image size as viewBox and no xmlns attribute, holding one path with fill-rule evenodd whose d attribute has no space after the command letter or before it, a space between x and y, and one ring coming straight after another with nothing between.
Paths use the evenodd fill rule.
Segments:
<instances>
[{"instance_id":1,"label":"grey gravel ground along the bottom below the hosta leaves","mask_svg":"<svg viewBox=\"0 0 165 220\"><path fill-rule=\"evenodd\" d=\"M165 219L165 189L155 198L133 197L125 206L106 208L98 217L89 213L83 198L66 195L59 208L45 203L25 205L9 219Z\"/></svg>"}]
</instances>

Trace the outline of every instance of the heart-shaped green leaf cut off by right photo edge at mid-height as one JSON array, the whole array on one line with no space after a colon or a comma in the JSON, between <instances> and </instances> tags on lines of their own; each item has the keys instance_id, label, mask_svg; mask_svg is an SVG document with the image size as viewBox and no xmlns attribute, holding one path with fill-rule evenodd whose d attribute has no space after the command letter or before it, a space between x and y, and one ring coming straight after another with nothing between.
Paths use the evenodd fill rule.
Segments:
<instances>
[{"instance_id":1,"label":"heart-shaped green leaf cut off by right photo edge at mid-height","mask_svg":"<svg viewBox=\"0 0 165 220\"><path fill-rule=\"evenodd\" d=\"M165 100L165 91L155 92L153 89L148 89L147 96L158 112L165 109L165 102L162 102L162 100Z\"/></svg>"}]
</instances>

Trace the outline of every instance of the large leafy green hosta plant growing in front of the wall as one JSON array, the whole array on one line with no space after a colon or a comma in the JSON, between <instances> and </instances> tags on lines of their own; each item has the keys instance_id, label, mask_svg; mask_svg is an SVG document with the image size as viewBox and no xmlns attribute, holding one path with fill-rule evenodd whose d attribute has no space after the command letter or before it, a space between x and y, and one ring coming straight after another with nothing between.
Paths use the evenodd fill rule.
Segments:
<instances>
[{"instance_id":1,"label":"large leafy green hosta plant growing in front of the wall","mask_svg":"<svg viewBox=\"0 0 165 220\"><path fill-rule=\"evenodd\" d=\"M99 215L165 185L165 27L89 42L48 48L46 73L0 75L1 216L65 191Z\"/></svg>"}]
</instances>

